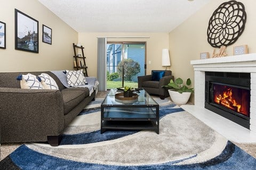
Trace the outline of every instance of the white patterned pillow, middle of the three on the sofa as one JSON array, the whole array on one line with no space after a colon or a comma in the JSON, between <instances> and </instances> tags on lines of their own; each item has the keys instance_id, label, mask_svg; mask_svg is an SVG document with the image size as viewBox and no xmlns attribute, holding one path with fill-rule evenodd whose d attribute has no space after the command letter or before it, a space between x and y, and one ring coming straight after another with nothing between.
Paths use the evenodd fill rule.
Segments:
<instances>
[{"instance_id":1,"label":"white patterned pillow, middle of the three on the sofa","mask_svg":"<svg viewBox=\"0 0 256 170\"><path fill-rule=\"evenodd\" d=\"M59 90L57 83L49 74L42 73L38 75L38 80L41 81L44 89Z\"/></svg>"}]
</instances>

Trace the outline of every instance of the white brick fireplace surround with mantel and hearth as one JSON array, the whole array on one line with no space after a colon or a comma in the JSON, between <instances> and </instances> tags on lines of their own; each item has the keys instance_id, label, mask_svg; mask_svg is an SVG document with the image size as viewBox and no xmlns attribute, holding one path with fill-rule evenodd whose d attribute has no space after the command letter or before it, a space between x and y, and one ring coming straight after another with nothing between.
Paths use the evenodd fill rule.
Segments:
<instances>
[{"instance_id":1,"label":"white brick fireplace surround with mantel and hearth","mask_svg":"<svg viewBox=\"0 0 256 170\"><path fill-rule=\"evenodd\" d=\"M256 142L256 53L190 61L195 73L195 105L181 106L234 142ZM205 72L251 73L250 130L204 108Z\"/></svg>"}]
</instances>

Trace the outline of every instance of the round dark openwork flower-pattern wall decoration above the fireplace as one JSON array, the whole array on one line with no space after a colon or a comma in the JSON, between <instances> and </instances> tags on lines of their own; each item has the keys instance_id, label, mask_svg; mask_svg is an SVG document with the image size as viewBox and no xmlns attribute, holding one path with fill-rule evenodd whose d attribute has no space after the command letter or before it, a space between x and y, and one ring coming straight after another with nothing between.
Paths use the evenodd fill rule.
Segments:
<instances>
[{"instance_id":1,"label":"round dark openwork flower-pattern wall decoration above the fireplace","mask_svg":"<svg viewBox=\"0 0 256 170\"><path fill-rule=\"evenodd\" d=\"M243 3L222 3L210 18L207 29L208 43L218 48L234 44L244 31L246 17Z\"/></svg>"}]
</instances>

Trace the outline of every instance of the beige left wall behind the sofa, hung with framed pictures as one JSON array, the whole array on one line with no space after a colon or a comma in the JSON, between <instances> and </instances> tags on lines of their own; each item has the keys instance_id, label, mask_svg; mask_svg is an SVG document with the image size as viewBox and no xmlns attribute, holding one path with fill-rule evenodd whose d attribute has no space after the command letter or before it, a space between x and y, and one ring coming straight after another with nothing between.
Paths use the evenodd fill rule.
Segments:
<instances>
[{"instance_id":1,"label":"beige left wall behind the sofa, hung with framed pictures","mask_svg":"<svg viewBox=\"0 0 256 170\"><path fill-rule=\"evenodd\" d=\"M14 8L39 21L39 53L15 50ZM6 23L6 49L0 49L0 72L73 69L73 45L78 33L37 0L3 2L0 21ZM52 45L42 42L42 24L52 29Z\"/></svg>"}]
</instances>

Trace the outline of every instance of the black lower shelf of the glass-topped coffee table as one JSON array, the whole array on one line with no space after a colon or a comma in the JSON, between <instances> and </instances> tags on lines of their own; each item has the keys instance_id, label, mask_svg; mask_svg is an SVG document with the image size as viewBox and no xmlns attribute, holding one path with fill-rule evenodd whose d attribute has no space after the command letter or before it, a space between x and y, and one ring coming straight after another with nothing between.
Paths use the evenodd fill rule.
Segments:
<instances>
[{"instance_id":1,"label":"black lower shelf of the glass-topped coffee table","mask_svg":"<svg viewBox=\"0 0 256 170\"><path fill-rule=\"evenodd\" d=\"M100 133L107 130L154 130L159 134L156 121L108 121L102 122Z\"/></svg>"}]
</instances>

